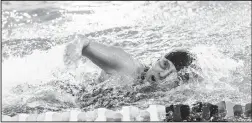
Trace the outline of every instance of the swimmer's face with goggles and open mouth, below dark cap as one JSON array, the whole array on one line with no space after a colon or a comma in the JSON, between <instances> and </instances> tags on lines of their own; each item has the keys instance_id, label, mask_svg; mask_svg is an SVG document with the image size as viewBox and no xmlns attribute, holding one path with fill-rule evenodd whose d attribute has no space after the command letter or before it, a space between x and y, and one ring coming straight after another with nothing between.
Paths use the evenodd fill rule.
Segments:
<instances>
[{"instance_id":1,"label":"swimmer's face with goggles and open mouth, below dark cap","mask_svg":"<svg viewBox=\"0 0 252 123\"><path fill-rule=\"evenodd\" d=\"M175 66L171 61L162 57L148 70L146 80L150 83L157 83L166 79L172 73L177 73Z\"/></svg>"}]
</instances>

